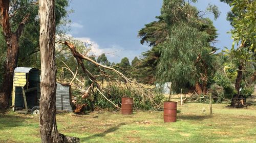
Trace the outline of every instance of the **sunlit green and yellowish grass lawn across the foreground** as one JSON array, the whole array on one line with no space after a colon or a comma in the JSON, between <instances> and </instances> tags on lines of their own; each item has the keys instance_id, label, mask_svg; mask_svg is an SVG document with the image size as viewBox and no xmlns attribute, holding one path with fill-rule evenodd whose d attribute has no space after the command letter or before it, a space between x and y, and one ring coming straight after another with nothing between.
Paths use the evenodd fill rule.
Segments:
<instances>
[{"instance_id":1,"label":"sunlit green and yellowish grass lawn across the foreground","mask_svg":"<svg viewBox=\"0 0 256 143\"><path fill-rule=\"evenodd\" d=\"M164 123L163 111L93 112L57 115L60 133L81 142L256 142L256 107L233 109L214 104L213 116L202 113L207 104L178 106L177 122ZM150 122L144 124L143 122ZM0 114L0 142L40 142L38 116Z\"/></svg>"}]
</instances>

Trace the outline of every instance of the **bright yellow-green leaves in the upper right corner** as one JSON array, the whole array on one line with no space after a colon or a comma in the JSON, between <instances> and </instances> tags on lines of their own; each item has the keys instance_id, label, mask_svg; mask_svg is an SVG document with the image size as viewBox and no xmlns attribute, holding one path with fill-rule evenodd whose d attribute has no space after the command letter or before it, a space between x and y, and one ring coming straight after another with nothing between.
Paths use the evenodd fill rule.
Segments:
<instances>
[{"instance_id":1,"label":"bright yellow-green leaves in the upper right corner","mask_svg":"<svg viewBox=\"0 0 256 143\"><path fill-rule=\"evenodd\" d=\"M233 26L231 30L234 43L241 43L243 47L249 47L253 52L256 51L255 43L255 11L256 1L251 0L221 0L229 4L231 12L228 14L227 19ZM233 43L233 45L234 45Z\"/></svg>"}]
</instances>

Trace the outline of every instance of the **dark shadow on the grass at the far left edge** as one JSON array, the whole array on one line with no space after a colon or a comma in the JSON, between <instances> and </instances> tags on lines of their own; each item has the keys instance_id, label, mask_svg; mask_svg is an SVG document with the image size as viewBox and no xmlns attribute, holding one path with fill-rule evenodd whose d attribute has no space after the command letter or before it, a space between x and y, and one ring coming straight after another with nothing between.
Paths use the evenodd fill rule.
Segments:
<instances>
[{"instance_id":1,"label":"dark shadow on the grass at the far left edge","mask_svg":"<svg viewBox=\"0 0 256 143\"><path fill-rule=\"evenodd\" d=\"M11 127L24 126L25 117L7 115L0 113L0 130L9 129Z\"/></svg>"}]
</instances>

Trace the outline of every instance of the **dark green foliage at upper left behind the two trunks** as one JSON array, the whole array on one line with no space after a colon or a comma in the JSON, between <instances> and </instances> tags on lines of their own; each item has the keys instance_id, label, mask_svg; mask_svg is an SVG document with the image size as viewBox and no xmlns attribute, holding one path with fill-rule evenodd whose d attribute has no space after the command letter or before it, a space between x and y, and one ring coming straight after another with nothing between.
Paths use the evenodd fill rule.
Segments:
<instances>
[{"instance_id":1,"label":"dark green foliage at upper left behind the two trunks","mask_svg":"<svg viewBox=\"0 0 256 143\"><path fill-rule=\"evenodd\" d=\"M40 54L39 54L39 18L38 18L38 5L34 0L18 0L10 2L10 23L11 30L14 32L20 22L23 20L27 13L30 14L28 21L25 24L22 36L19 39L19 56L18 66L19 67L34 67L40 68ZM63 33L60 30L61 25L67 24L67 14L69 11L66 8L69 6L69 0L57 0L55 3L55 14L56 14L56 33ZM0 31L2 27L0 26ZM61 32L60 32L61 31ZM0 36L0 51L1 59L5 59L6 44L4 37L1 32ZM2 52L3 51L3 52ZM0 60L0 62L2 62ZM1 63L2 65L2 63ZM3 69L0 67L0 71ZM2 75L2 74L1 74ZM1 78L1 77L0 77ZM2 78L1 78L2 79Z\"/></svg>"}]
</instances>

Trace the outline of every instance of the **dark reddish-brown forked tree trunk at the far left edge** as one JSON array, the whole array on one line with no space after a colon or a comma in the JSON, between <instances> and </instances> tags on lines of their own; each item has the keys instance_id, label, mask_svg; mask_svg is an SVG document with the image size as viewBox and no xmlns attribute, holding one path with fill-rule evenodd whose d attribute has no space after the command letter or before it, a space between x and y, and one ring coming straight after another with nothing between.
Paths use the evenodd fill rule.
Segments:
<instances>
[{"instance_id":1,"label":"dark reddish-brown forked tree trunk at the far left edge","mask_svg":"<svg viewBox=\"0 0 256 143\"><path fill-rule=\"evenodd\" d=\"M0 1L0 17L3 27L3 33L7 44L7 55L5 62L4 81L0 90L0 109L6 109L8 107L9 98L12 92L12 82L14 69L17 67L18 61L18 39L22 34L25 23L28 20L29 14L27 14L23 21L20 22L15 33L11 31L11 24L9 20L9 0Z\"/></svg>"}]
</instances>

